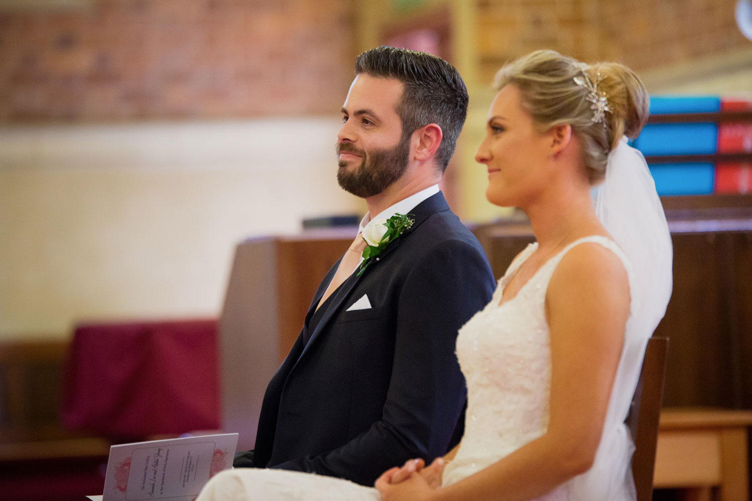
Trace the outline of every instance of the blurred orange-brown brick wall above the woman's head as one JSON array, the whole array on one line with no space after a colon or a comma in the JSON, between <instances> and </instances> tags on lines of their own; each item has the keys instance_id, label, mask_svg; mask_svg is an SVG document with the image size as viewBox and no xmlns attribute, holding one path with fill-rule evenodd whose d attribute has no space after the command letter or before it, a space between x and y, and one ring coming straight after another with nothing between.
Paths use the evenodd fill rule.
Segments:
<instances>
[{"instance_id":1,"label":"blurred orange-brown brick wall above the woman's head","mask_svg":"<svg viewBox=\"0 0 752 501\"><path fill-rule=\"evenodd\" d=\"M550 48L635 70L750 47L737 0L478 0L481 83L509 59Z\"/></svg>"}]
</instances>

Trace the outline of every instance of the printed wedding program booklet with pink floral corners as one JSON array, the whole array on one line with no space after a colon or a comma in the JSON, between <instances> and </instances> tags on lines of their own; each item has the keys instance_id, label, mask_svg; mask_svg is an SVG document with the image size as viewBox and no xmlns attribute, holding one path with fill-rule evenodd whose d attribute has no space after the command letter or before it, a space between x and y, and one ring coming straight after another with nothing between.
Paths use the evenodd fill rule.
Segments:
<instances>
[{"instance_id":1,"label":"printed wedding program booklet with pink floral corners","mask_svg":"<svg viewBox=\"0 0 752 501\"><path fill-rule=\"evenodd\" d=\"M105 492L94 501L192 501L209 478L232 467L238 433L113 445Z\"/></svg>"}]
</instances>

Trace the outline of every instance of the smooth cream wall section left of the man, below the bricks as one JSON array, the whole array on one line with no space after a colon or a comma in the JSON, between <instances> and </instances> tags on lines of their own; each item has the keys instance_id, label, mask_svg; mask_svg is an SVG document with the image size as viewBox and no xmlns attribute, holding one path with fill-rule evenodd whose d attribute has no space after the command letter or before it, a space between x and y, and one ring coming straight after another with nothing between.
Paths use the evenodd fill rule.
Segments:
<instances>
[{"instance_id":1,"label":"smooth cream wall section left of the man, below the bricks","mask_svg":"<svg viewBox=\"0 0 752 501\"><path fill-rule=\"evenodd\" d=\"M235 244L362 213L336 118L0 128L0 340L216 316Z\"/></svg>"}]
</instances>

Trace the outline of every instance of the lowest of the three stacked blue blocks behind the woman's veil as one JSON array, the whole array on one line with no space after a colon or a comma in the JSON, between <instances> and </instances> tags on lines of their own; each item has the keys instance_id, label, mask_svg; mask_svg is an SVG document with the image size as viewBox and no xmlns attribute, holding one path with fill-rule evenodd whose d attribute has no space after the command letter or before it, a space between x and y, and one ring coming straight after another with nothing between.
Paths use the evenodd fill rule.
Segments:
<instances>
[{"instance_id":1,"label":"lowest of the three stacked blue blocks behind the woman's veil","mask_svg":"<svg viewBox=\"0 0 752 501\"><path fill-rule=\"evenodd\" d=\"M708 195L715 169L709 162L648 165L658 195Z\"/></svg>"}]
</instances>

